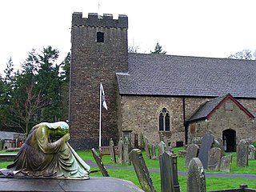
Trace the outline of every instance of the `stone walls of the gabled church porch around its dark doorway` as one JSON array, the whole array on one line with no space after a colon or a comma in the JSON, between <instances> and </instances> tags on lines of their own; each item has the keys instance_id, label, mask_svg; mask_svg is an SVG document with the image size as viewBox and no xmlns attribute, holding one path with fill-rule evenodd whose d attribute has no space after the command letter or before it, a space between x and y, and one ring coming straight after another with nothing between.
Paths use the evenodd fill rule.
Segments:
<instances>
[{"instance_id":1,"label":"stone walls of the gabled church porch around its dark doorway","mask_svg":"<svg viewBox=\"0 0 256 192\"><path fill-rule=\"evenodd\" d=\"M228 99L226 102L230 102ZM239 100L238 100L239 101ZM236 142L241 139L246 139L250 142L256 141L255 137L255 123L243 110L234 104L233 110L226 110L224 102L208 120L190 123L189 126L189 141L194 136L203 136L206 130L210 130L216 137L222 138L222 131L232 129L236 131ZM252 102L252 100L242 101L243 104ZM242 103L241 102L241 103ZM250 111L252 112L252 111ZM254 113L253 113L254 114Z\"/></svg>"}]
</instances>

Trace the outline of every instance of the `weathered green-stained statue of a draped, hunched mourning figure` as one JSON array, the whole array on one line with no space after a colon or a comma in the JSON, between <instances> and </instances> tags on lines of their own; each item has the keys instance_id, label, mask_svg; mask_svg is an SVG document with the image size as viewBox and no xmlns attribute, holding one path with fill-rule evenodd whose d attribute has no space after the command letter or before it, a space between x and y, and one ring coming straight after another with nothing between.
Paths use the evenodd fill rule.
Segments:
<instances>
[{"instance_id":1,"label":"weathered green-stained statue of a draped, hunched mourning figure","mask_svg":"<svg viewBox=\"0 0 256 192\"><path fill-rule=\"evenodd\" d=\"M52 142L51 137L61 137ZM66 122L42 122L30 130L14 163L0 174L17 177L88 179L90 166L70 146Z\"/></svg>"}]
</instances>

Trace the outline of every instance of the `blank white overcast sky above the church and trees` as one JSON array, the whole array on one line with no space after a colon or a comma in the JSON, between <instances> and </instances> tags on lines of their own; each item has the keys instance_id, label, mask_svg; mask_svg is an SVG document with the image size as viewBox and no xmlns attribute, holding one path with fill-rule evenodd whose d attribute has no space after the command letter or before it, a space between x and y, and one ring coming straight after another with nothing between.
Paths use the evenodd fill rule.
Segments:
<instances>
[{"instance_id":1,"label":"blank white overcast sky above the church and trees","mask_svg":"<svg viewBox=\"0 0 256 192\"><path fill-rule=\"evenodd\" d=\"M100 4L100 6L98 6ZM12 57L18 69L30 50L70 51L73 12L126 14L129 46L150 53L226 58L256 49L255 0L6 0L0 6L0 73Z\"/></svg>"}]
</instances>

